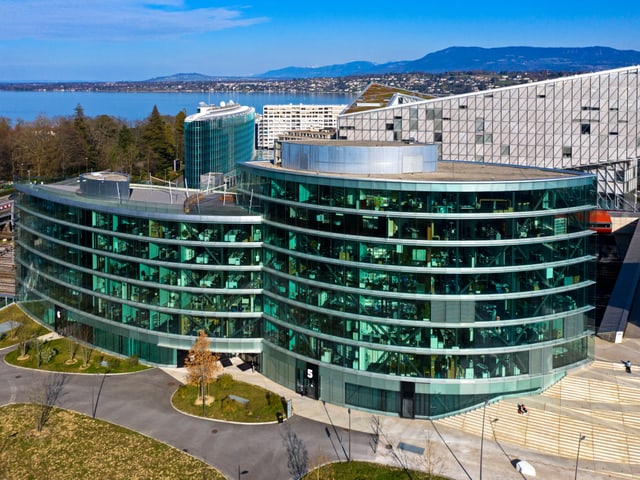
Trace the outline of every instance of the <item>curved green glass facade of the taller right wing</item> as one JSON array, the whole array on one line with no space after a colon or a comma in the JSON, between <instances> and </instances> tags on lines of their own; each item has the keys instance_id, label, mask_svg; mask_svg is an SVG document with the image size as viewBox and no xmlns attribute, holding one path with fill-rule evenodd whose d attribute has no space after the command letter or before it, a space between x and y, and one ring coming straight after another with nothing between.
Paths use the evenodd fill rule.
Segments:
<instances>
[{"instance_id":1,"label":"curved green glass facade of the taller right wing","mask_svg":"<svg viewBox=\"0 0 640 480\"><path fill-rule=\"evenodd\" d=\"M278 382L434 417L545 388L591 355L594 177L242 170L265 222L264 371Z\"/></svg>"}]
</instances>

